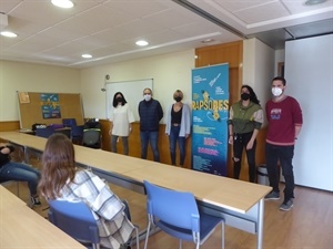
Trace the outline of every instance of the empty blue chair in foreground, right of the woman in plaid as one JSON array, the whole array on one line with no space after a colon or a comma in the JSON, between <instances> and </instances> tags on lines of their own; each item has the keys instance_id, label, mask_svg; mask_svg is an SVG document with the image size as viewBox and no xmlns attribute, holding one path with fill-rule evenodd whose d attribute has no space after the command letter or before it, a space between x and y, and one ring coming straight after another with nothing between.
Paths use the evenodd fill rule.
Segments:
<instances>
[{"instance_id":1,"label":"empty blue chair in foreground, right of the woman in plaid","mask_svg":"<svg viewBox=\"0 0 333 249\"><path fill-rule=\"evenodd\" d=\"M161 188L147 180L144 187L149 219L144 249L152 226L180 239L180 249L182 240L193 241L199 249L219 224L222 225L222 248L224 248L223 218L199 211L193 194Z\"/></svg>"}]
</instances>

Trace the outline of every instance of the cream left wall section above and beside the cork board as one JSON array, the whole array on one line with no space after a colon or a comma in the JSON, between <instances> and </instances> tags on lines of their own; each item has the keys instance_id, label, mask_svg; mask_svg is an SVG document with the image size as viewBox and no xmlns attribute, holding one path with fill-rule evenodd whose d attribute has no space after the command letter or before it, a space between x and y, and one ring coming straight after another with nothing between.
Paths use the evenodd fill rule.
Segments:
<instances>
[{"instance_id":1,"label":"cream left wall section above and beside the cork board","mask_svg":"<svg viewBox=\"0 0 333 249\"><path fill-rule=\"evenodd\" d=\"M19 121L19 92L80 93L80 71L0 61L0 121Z\"/></svg>"}]
</instances>

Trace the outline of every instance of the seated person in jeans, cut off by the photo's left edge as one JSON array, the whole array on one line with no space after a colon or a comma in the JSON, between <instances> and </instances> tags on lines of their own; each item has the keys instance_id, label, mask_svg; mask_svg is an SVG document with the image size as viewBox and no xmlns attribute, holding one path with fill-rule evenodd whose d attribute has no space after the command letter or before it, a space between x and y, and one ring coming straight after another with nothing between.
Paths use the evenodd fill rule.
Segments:
<instances>
[{"instance_id":1,"label":"seated person in jeans, cut off by the photo's left edge","mask_svg":"<svg viewBox=\"0 0 333 249\"><path fill-rule=\"evenodd\" d=\"M30 165L12 162L10 159L10 154L13 151L13 146L0 143L0 181L28 181L31 204L41 205L37 193L37 186L40 178L39 170Z\"/></svg>"}]
</instances>

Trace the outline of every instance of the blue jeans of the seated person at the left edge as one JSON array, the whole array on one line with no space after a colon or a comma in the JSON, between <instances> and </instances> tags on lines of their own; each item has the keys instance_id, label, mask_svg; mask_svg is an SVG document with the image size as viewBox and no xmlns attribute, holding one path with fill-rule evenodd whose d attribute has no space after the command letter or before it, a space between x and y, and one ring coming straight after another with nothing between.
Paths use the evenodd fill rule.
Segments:
<instances>
[{"instance_id":1,"label":"blue jeans of the seated person at the left edge","mask_svg":"<svg viewBox=\"0 0 333 249\"><path fill-rule=\"evenodd\" d=\"M9 162L0 167L0 179L28 181L28 187L31 196L37 196L37 186L40 178L40 172L29 165Z\"/></svg>"}]
</instances>

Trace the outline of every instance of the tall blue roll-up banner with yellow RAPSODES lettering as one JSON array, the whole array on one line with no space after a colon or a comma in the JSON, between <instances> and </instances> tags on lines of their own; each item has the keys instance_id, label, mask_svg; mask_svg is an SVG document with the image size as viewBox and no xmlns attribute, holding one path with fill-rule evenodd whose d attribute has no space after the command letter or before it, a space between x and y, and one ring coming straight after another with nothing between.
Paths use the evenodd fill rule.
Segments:
<instances>
[{"instance_id":1,"label":"tall blue roll-up banner with yellow RAPSODES lettering","mask_svg":"<svg viewBox=\"0 0 333 249\"><path fill-rule=\"evenodd\" d=\"M229 64L192 70L192 169L226 176Z\"/></svg>"}]
</instances>

